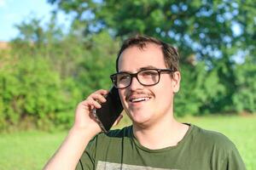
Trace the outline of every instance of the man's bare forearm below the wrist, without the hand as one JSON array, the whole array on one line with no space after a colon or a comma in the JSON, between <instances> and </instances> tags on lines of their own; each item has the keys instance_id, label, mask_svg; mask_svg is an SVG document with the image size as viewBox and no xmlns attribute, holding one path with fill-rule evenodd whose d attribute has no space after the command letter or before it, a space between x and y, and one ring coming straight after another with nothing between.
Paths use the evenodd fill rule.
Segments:
<instances>
[{"instance_id":1,"label":"man's bare forearm below the wrist, without the hand","mask_svg":"<svg viewBox=\"0 0 256 170\"><path fill-rule=\"evenodd\" d=\"M59 150L55 152L55 155L45 165L44 170L75 169L85 147L94 136L95 133L90 129L73 127Z\"/></svg>"}]
</instances>

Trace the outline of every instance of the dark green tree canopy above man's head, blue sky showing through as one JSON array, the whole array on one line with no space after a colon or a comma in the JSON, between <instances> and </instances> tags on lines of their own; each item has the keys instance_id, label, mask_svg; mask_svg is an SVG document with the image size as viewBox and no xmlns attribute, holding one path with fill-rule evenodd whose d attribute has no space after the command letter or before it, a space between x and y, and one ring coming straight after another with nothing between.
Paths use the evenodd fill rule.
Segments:
<instances>
[{"instance_id":1,"label":"dark green tree canopy above man's head, blue sky showing through","mask_svg":"<svg viewBox=\"0 0 256 170\"><path fill-rule=\"evenodd\" d=\"M196 53L210 60L215 57L212 52L238 46L237 42L245 42L244 37L253 42L253 1L49 0L49 3L76 14L74 20L84 23L86 33L110 29L116 37L135 33L159 37L177 45L184 58ZM85 14L89 16L84 17ZM241 26L239 36L232 30L234 23Z\"/></svg>"}]
</instances>

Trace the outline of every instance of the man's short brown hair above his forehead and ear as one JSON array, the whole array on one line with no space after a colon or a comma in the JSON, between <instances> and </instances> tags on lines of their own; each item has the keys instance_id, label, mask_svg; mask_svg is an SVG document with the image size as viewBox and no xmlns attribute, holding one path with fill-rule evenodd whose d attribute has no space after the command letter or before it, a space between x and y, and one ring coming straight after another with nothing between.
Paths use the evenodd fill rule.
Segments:
<instances>
[{"instance_id":1,"label":"man's short brown hair above his forehead and ear","mask_svg":"<svg viewBox=\"0 0 256 170\"><path fill-rule=\"evenodd\" d=\"M166 67L172 69L172 71L179 71L178 60L179 55L177 49L172 47L166 42L162 42L154 37L137 35L135 37L130 37L123 43L122 47L119 49L119 53L116 59L116 71L119 71L119 58L120 55L125 51L126 48L137 46L138 48L145 48L148 43L154 43L161 47L164 59L166 62Z\"/></svg>"}]
</instances>

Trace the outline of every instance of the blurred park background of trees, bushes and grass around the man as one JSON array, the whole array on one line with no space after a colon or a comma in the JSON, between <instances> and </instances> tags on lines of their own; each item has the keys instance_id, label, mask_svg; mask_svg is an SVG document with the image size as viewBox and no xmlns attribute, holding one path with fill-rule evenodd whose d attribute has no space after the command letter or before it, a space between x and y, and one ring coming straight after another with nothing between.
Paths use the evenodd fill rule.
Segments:
<instances>
[{"instance_id":1,"label":"blurred park background of trees, bushes and grass around the man","mask_svg":"<svg viewBox=\"0 0 256 170\"><path fill-rule=\"evenodd\" d=\"M181 122L224 133L256 169L256 10L247 1L48 0L0 47L0 169L42 169L73 124L76 105L111 87L121 42L160 38L180 54ZM57 14L68 15L68 29ZM127 117L119 127L130 124Z\"/></svg>"}]
</instances>

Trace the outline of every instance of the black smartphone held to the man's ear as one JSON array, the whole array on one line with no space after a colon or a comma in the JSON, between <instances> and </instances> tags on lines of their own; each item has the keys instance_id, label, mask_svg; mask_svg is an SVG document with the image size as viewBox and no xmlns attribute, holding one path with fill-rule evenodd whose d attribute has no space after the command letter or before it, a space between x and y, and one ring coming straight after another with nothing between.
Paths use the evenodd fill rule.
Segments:
<instances>
[{"instance_id":1,"label":"black smartphone held to the man's ear","mask_svg":"<svg viewBox=\"0 0 256 170\"><path fill-rule=\"evenodd\" d=\"M102 108L92 111L93 115L96 117L96 122L98 122L104 133L108 133L113 123L124 110L117 88L112 87L106 99L107 101L101 104Z\"/></svg>"}]
</instances>

